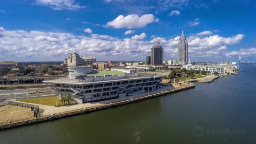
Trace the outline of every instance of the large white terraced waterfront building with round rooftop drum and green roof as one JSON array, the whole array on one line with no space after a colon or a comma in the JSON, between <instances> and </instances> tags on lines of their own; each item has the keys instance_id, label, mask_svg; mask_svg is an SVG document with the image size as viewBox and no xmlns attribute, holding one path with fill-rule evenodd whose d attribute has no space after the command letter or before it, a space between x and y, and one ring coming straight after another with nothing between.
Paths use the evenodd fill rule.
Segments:
<instances>
[{"instance_id":1,"label":"large white terraced waterfront building with round rooftop drum and green roof","mask_svg":"<svg viewBox=\"0 0 256 144\"><path fill-rule=\"evenodd\" d=\"M68 67L69 78L43 81L60 97L71 96L81 104L109 98L125 97L127 93L154 92L162 76L138 76L120 71L92 71L90 66Z\"/></svg>"}]
</instances>

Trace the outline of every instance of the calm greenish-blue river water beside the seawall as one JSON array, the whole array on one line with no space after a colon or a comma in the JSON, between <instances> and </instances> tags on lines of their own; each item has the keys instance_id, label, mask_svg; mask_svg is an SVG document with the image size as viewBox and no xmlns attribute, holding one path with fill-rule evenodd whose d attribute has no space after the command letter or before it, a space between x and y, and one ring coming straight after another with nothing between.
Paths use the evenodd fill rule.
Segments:
<instances>
[{"instance_id":1,"label":"calm greenish-blue river water beside the seawall","mask_svg":"<svg viewBox=\"0 0 256 144\"><path fill-rule=\"evenodd\" d=\"M256 65L131 105L0 131L0 144L255 144Z\"/></svg>"}]
</instances>

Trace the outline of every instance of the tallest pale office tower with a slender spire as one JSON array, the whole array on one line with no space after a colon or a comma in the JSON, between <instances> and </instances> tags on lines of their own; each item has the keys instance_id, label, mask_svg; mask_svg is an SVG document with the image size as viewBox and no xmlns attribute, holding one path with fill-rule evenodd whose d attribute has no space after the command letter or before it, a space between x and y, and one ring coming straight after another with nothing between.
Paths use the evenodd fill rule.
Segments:
<instances>
[{"instance_id":1,"label":"tallest pale office tower with a slender spire","mask_svg":"<svg viewBox=\"0 0 256 144\"><path fill-rule=\"evenodd\" d=\"M188 42L186 40L186 36L183 34L183 31L181 33L181 36L179 37L179 43L178 43L178 64L183 66L187 65L188 63Z\"/></svg>"}]
</instances>

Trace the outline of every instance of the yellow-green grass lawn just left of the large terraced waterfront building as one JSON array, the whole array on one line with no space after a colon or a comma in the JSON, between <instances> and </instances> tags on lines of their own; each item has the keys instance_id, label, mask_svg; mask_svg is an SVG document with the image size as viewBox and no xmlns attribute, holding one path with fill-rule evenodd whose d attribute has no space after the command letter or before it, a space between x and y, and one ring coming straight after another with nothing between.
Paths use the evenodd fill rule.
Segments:
<instances>
[{"instance_id":1,"label":"yellow-green grass lawn just left of the large terraced waterfront building","mask_svg":"<svg viewBox=\"0 0 256 144\"><path fill-rule=\"evenodd\" d=\"M17 99L17 101L27 103L27 99ZM45 97L45 98L42 98L42 101L43 101L43 104L41 104L41 98L29 98L28 99L28 103L56 106L56 98L55 97ZM70 101L70 103L74 104L75 102ZM57 97L57 105L61 105L61 102L59 101L59 97Z\"/></svg>"}]
</instances>

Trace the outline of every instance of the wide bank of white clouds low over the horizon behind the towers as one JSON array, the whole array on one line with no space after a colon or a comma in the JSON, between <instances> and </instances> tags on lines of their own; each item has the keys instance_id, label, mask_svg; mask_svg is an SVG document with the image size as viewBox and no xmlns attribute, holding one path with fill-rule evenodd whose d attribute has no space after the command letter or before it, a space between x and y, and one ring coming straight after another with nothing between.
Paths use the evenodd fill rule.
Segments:
<instances>
[{"instance_id":1,"label":"wide bank of white clouds low over the horizon behind the towers","mask_svg":"<svg viewBox=\"0 0 256 144\"><path fill-rule=\"evenodd\" d=\"M110 35L90 34L90 36L73 33L6 30L0 27L0 59L14 61L60 61L67 57L68 52L78 52L80 55L98 56L105 60L142 60L142 56L150 55L153 40L146 40L146 34L141 33L132 38L118 39ZM244 38L243 34L230 37L219 35L197 37L187 36L189 57L237 57L256 55L256 48L229 51ZM139 40L138 40L139 39ZM179 36L173 38L158 37L164 48L166 59L176 59ZM86 51L85 51L86 50ZM13 57L15 55L15 57Z\"/></svg>"}]
</instances>

